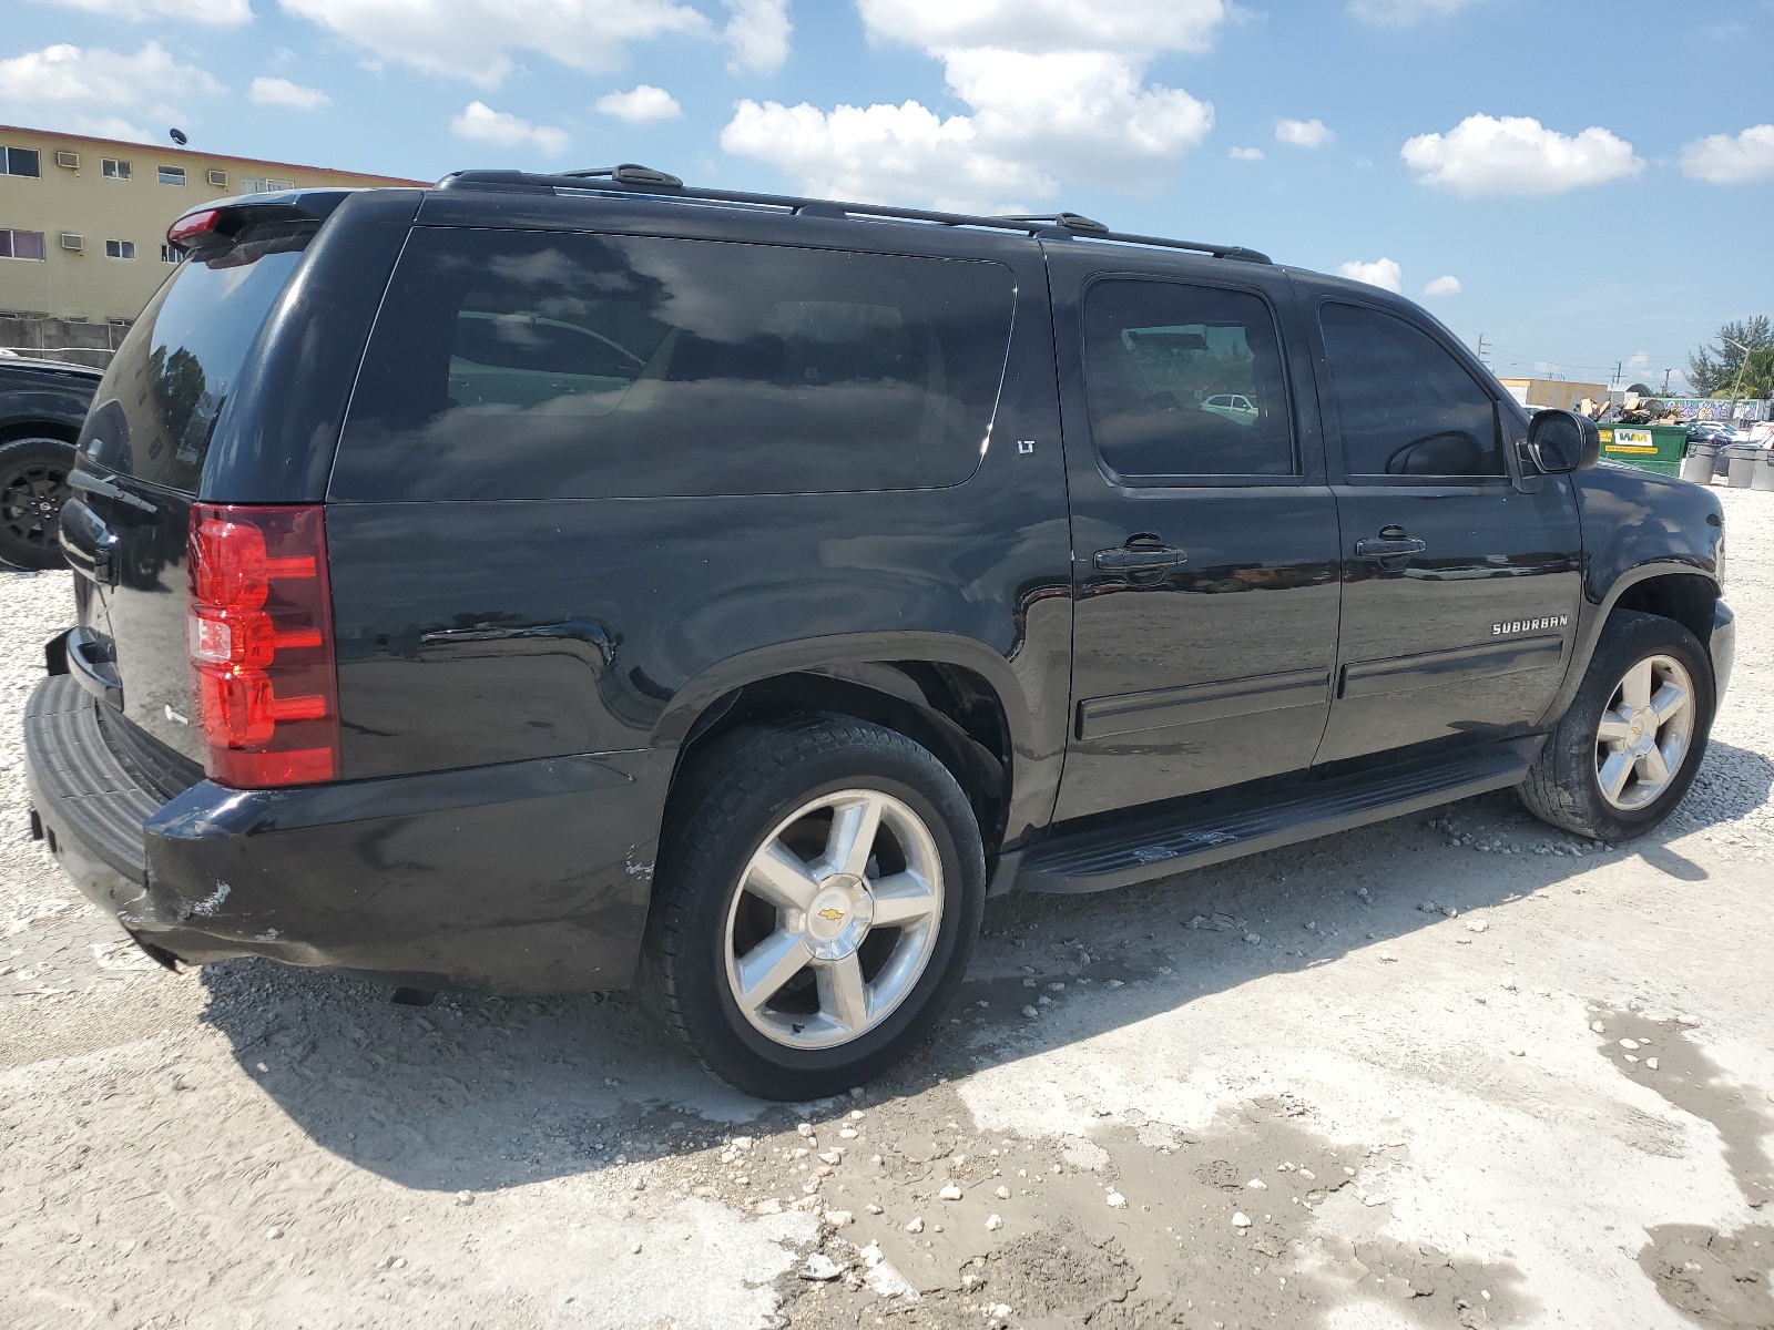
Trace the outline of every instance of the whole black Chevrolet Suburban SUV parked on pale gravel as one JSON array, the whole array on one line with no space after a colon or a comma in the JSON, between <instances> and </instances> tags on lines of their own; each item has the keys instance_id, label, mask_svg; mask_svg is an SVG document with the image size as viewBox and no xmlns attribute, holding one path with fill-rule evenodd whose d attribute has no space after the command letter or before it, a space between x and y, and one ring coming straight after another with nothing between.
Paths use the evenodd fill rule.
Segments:
<instances>
[{"instance_id":1,"label":"whole black Chevrolet Suburban SUV parked on pale gravel","mask_svg":"<svg viewBox=\"0 0 1774 1330\"><path fill-rule=\"evenodd\" d=\"M1707 489L1249 250L642 167L170 241L25 722L167 965L633 984L805 1099L928 1034L988 896L1510 786L1629 837L1730 674Z\"/></svg>"}]
</instances>

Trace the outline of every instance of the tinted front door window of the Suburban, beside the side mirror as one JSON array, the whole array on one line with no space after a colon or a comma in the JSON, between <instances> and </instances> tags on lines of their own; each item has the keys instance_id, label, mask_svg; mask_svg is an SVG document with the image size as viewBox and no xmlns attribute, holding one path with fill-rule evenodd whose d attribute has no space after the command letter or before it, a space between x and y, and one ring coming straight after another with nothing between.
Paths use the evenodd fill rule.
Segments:
<instances>
[{"instance_id":1,"label":"tinted front door window of the Suburban, beside the side mirror","mask_svg":"<svg viewBox=\"0 0 1774 1330\"><path fill-rule=\"evenodd\" d=\"M1348 475L1504 475L1495 404L1419 328L1325 305L1325 358Z\"/></svg>"}]
</instances>

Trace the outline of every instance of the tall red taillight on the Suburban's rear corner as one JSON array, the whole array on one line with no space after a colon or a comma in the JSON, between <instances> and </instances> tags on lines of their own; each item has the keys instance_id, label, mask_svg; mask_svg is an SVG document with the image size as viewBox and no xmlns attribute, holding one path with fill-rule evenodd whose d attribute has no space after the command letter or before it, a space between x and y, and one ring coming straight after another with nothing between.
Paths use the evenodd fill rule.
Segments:
<instances>
[{"instance_id":1,"label":"tall red taillight on the Suburban's rear corner","mask_svg":"<svg viewBox=\"0 0 1774 1330\"><path fill-rule=\"evenodd\" d=\"M339 775L326 525L319 504L195 504L186 628L204 770L224 786Z\"/></svg>"}]
</instances>

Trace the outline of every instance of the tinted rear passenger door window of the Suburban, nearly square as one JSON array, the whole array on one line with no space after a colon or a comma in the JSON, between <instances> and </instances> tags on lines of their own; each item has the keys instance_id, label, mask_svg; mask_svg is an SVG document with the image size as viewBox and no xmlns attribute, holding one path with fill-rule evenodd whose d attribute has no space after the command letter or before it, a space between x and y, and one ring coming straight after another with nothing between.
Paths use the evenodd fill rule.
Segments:
<instances>
[{"instance_id":1,"label":"tinted rear passenger door window of the Suburban, nearly square","mask_svg":"<svg viewBox=\"0 0 1774 1330\"><path fill-rule=\"evenodd\" d=\"M1096 449L1121 475L1293 475L1268 305L1245 291L1112 280L1084 301Z\"/></svg>"}]
</instances>

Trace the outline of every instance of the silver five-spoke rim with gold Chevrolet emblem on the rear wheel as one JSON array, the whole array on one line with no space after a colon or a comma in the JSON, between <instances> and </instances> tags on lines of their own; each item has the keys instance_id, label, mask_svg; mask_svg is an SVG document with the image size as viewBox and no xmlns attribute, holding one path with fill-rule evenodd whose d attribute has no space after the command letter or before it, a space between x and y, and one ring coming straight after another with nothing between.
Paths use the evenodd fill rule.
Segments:
<instances>
[{"instance_id":1,"label":"silver five-spoke rim with gold Chevrolet emblem on the rear wheel","mask_svg":"<svg viewBox=\"0 0 1774 1330\"><path fill-rule=\"evenodd\" d=\"M942 927L942 857L892 794L843 789L765 837L727 906L727 990L765 1037L834 1048L917 986Z\"/></svg>"}]
</instances>

